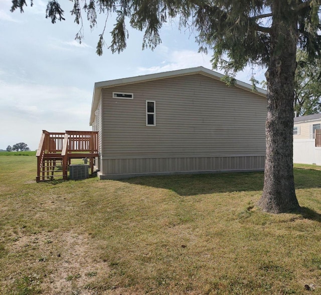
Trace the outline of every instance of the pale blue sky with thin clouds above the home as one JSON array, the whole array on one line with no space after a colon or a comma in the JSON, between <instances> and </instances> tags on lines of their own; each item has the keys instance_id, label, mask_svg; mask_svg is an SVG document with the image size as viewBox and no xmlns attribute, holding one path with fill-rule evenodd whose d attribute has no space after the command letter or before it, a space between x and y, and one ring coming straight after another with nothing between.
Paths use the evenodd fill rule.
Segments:
<instances>
[{"instance_id":1,"label":"pale blue sky with thin clouds above the home","mask_svg":"<svg viewBox=\"0 0 321 295\"><path fill-rule=\"evenodd\" d=\"M42 130L91 130L90 109L94 83L138 75L203 66L212 69L211 56L198 53L195 34L179 31L172 21L161 30L162 44L142 50L143 33L127 28L127 48L112 54L107 48L114 20L107 21L103 55L96 44L105 24L99 16L90 31L84 20L84 40L75 40L80 29L70 15L72 3L60 1L65 21L46 19L46 1L10 12L11 0L0 0L0 149L25 142L38 148ZM220 69L215 71L223 73ZM254 68L257 80L264 69ZM249 83L251 67L236 75Z\"/></svg>"}]
</instances>

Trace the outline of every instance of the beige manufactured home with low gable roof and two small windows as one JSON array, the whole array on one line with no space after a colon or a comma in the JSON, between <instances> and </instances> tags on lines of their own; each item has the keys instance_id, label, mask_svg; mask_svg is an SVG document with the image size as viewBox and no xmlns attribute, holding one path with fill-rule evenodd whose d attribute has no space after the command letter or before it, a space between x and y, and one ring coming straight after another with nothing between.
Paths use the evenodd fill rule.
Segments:
<instances>
[{"instance_id":1,"label":"beige manufactured home with low gable roof and two small windows","mask_svg":"<svg viewBox=\"0 0 321 295\"><path fill-rule=\"evenodd\" d=\"M266 91L197 67L94 85L100 179L262 171Z\"/></svg>"}]
</instances>

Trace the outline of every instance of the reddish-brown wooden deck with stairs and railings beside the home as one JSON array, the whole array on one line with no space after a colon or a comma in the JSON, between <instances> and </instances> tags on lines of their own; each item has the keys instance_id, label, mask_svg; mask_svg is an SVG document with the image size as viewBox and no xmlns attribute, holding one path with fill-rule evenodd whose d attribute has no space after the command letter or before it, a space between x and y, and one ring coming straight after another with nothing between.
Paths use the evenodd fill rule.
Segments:
<instances>
[{"instance_id":1,"label":"reddish-brown wooden deck with stairs and railings beside the home","mask_svg":"<svg viewBox=\"0 0 321 295\"><path fill-rule=\"evenodd\" d=\"M36 157L37 182L53 180L54 176L67 179L71 159L87 158L92 174L98 157L98 132L43 130Z\"/></svg>"}]
</instances>

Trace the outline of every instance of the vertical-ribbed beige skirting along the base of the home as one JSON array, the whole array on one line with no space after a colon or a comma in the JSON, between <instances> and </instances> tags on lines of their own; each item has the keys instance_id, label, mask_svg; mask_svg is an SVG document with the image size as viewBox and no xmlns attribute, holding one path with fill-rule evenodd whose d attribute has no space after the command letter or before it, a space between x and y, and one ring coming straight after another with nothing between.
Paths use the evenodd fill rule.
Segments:
<instances>
[{"instance_id":1,"label":"vertical-ribbed beige skirting along the base of the home","mask_svg":"<svg viewBox=\"0 0 321 295\"><path fill-rule=\"evenodd\" d=\"M104 159L99 179L138 176L263 171L265 156Z\"/></svg>"}]
</instances>

